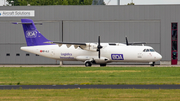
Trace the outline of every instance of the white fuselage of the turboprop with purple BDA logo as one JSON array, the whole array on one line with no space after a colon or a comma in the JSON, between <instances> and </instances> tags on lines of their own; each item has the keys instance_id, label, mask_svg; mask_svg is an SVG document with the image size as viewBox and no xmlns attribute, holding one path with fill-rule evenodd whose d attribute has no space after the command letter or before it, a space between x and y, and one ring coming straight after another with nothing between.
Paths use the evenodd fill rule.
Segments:
<instances>
[{"instance_id":1,"label":"white fuselage of the turboprop with purple BDA logo","mask_svg":"<svg viewBox=\"0 0 180 101\"><path fill-rule=\"evenodd\" d=\"M159 61L162 56L157 52L143 52L144 49L152 49L149 46L127 46L118 44L111 46L102 44L101 57L98 58L98 52L87 51L81 48L74 48L66 45L42 45L42 46L26 46L21 50L40 56L60 60L60 61L83 61L94 59L96 63L109 62L155 62Z\"/></svg>"}]
</instances>

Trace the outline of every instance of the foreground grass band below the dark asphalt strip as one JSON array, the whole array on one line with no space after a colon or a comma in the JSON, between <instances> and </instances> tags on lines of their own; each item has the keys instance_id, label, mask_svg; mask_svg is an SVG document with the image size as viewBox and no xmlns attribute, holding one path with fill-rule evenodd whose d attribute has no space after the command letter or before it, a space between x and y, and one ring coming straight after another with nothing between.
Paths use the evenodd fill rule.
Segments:
<instances>
[{"instance_id":1,"label":"foreground grass band below the dark asphalt strip","mask_svg":"<svg viewBox=\"0 0 180 101\"><path fill-rule=\"evenodd\" d=\"M0 100L13 101L179 101L180 90L18 89L0 90Z\"/></svg>"}]
</instances>

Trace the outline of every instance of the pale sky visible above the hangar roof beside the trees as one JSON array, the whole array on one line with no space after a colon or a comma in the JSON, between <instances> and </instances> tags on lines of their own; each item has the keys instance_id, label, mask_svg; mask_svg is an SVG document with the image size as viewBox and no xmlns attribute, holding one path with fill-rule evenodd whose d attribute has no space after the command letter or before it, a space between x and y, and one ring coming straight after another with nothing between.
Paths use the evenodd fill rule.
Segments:
<instances>
[{"instance_id":1,"label":"pale sky visible above the hangar roof beside the trees","mask_svg":"<svg viewBox=\"0 0 180 101\"><path fill-rule=\"evenodd\" d=\"M104 0L108 5L117 5L117 0ZM120 0L120 5L127 5L130 2L135 5L154 5L154 4L180 4L180 0ZM4 0L0 0L0 6L4 5Z\"/></svg>"}]
</instances>

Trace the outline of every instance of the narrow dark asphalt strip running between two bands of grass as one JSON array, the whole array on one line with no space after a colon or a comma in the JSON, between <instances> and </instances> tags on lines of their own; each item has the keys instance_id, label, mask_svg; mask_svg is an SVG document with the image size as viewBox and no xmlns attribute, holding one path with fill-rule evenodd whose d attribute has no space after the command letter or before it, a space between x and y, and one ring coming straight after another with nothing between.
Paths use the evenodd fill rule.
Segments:
<instances>
[{"instance_id":1,"label":"narrow dark asphalt strip running between two bands of grass","mask_svg":"<svg viewBox=\"0 0 180 101\"><path fill-rule=\"evenodd\" d=\"M0 89L180 89L180 85L0 85Z\"/></svg>"}]
</instances>

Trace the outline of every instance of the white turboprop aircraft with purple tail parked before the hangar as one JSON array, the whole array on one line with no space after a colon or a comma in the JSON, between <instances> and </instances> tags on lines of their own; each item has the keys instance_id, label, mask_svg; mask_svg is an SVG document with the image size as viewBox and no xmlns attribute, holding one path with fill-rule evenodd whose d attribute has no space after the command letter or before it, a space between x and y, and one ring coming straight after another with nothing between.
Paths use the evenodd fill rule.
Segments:
<instances>
[{"instance_id":1,"label":"white turboprop aircraft with purple tail parked before the hangar","mask_svg":"<svg viewBox=\"0 0 180 101\"><path fill-rule=\"evenodd\" d=\"M55 42L46 39L35 27L31 19L21 19L27 46L21 50L60 61L82 61L85 66L110 62L149 62L154 66L162 56L145 43L97 43ZM142 44L137 46L137 44Z\"/></svg>"}]
</instances>

